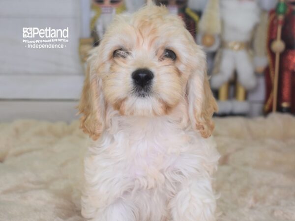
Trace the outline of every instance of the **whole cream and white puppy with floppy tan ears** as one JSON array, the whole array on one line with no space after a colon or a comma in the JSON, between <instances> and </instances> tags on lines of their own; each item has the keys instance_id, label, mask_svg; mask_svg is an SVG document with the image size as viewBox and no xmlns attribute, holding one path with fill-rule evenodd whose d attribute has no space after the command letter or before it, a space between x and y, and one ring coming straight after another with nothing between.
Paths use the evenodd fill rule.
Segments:
<instances>
[{"instance_id":1,"label":"whole cream and white puppy with floppy tan ears","mask_svg":"<svg viewBox=\"0 0 295 221\"><path fill-rule=\"evenodd\" d=\"M152 3L118 15L88 60L79 111L93 139L82 215L93 221L214 221L206 56Z\"/></svg>"}]
</instances>

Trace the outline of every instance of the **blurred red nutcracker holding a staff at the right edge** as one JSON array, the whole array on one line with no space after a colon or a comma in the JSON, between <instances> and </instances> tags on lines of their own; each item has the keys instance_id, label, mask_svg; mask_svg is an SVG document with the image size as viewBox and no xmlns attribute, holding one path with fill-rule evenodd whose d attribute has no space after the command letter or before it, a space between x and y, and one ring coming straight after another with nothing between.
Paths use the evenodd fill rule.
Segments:
<instances>
[{"instance_id":1,"label":"blurred red nutcracker holding a staff at the right edge","mask_svg":"<svg viewBox=\"0 0 295 221\"><path fill-rule=\"evenodd\" d=\"M280 0L268 24L265 111L295 113L295 0Z\"/></svg>"}]
</instances>

